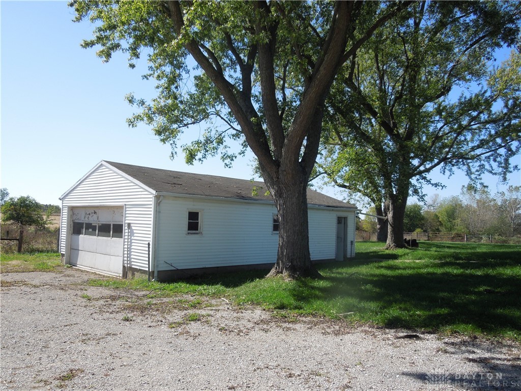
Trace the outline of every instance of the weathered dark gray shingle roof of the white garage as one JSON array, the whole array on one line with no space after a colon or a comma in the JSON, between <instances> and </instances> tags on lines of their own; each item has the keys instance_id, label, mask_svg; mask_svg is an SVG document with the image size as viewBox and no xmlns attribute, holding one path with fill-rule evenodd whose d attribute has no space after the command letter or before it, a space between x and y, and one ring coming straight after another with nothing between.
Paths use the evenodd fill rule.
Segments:
<instances>
[{"instance_id":1,"label":"weathered dark gray shingle roof of the white garage","mask_svg":"<svg viewBox=\"0 0 521 391\"><path fill-rule=\"evenodd\" d=\"M273 201L269 194L266 195L268 188L264 182L104 162L159 193ZM254 189L257 189L255 195ZM356 208L311 189L307 190L307 202L311 205Z\"/></svg>"}]
</instances>

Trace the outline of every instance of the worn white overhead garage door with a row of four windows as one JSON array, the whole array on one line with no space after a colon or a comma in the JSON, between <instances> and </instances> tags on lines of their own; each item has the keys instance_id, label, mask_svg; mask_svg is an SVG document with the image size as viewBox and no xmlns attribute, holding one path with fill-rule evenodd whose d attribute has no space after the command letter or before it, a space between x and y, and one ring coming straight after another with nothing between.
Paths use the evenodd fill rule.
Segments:
<instances>
[{"instance_id":1,"label":"worn white overhead garage door with a row of four windows","mask_svg":"<svg viewBox=\"0 0 521 391\"><path fill-rule=\"evenodd\" d=\"M121 276L123 207L75 207L72 210L70 264Z\"/></svg>"}]
</instances>

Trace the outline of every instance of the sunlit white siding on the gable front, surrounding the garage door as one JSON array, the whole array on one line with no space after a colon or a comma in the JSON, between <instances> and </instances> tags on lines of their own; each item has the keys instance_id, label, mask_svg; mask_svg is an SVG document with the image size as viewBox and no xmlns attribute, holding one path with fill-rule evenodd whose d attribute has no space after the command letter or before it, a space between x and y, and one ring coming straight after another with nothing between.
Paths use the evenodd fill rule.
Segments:
<instances>
[{"instance_id":1,"label":"sunlit white siding on the gable front, surrounding the garage door","mask_svg":"<svg viewBox=\"0 0 521 391\"><path fill-rule=\"evenodd\" d=\"M69 190L62 199L60 252L65 253L66 261L70 254L72 216L67 213L74 207L118 206L123 207L123 259L129 258L129 266L147 269L147 243L152 241L152 203L150 191L119 175L110 168L99 165ZM128 224L130 223L130 231ZM131 248L128 252L128 240ZM67 248L69 246L69 248Z\"/></svg>"}]
</instances>

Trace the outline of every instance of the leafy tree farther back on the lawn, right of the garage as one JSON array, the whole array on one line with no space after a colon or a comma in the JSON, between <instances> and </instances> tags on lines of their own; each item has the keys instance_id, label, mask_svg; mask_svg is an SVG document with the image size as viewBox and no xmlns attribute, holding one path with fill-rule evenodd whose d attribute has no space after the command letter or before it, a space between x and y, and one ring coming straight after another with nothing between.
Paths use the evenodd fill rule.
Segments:
<instances>
[{"instance_id":1,"label":"leafy tree farther back on the lawn, right of the garage","mask_svg":"<svg viewBox=\"0 0 521 391\"><path fill-rule=\"evenodd\" d=\"M517 2L416 2L342 68L321 168L387 206L388 248L403 246L408 197L443 186L429 178L433 169L479 179L517 168L521 55L489 62L517 43L520 18Z\"/></svg>"}]
</instances>

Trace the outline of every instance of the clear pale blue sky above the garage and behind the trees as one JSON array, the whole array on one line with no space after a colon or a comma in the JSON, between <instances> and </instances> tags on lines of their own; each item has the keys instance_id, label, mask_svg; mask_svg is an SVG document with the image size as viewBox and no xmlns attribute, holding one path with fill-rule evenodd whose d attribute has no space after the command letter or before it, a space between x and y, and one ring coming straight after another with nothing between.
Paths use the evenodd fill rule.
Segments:
<instances>
[{"instance_id":1,"label":"clear pale blue sky above the garage and behind the trees","mask_svg":"<svg viewBox=\"0 0 521 391\"><path fill-rule=\"evenodd\" d=\"M32 196L40 203L58 198L101 160L164 169L251 179L252 154L227 169L219 158L188 166L182 155L170 160L170 146L144 125L129 128L134 108L124 99L154 96L153 81L144 81L144 64L129 69L123 55L103 64L95 50L80 47L92 35L88 22L73 23L66 2L0 2L1 178L10 195ZM193 128L179 145L196 138ZM521 164L516 157L513 164ZM440 179L439 174L433 174ZM444 180L441 197L460 194L468 180L456 174ZM519 172L511 185L521 185ZM488 177L492 193L503 190ZM342 199L333 188L323 192Z\"/></svg>"}]
</instances>

